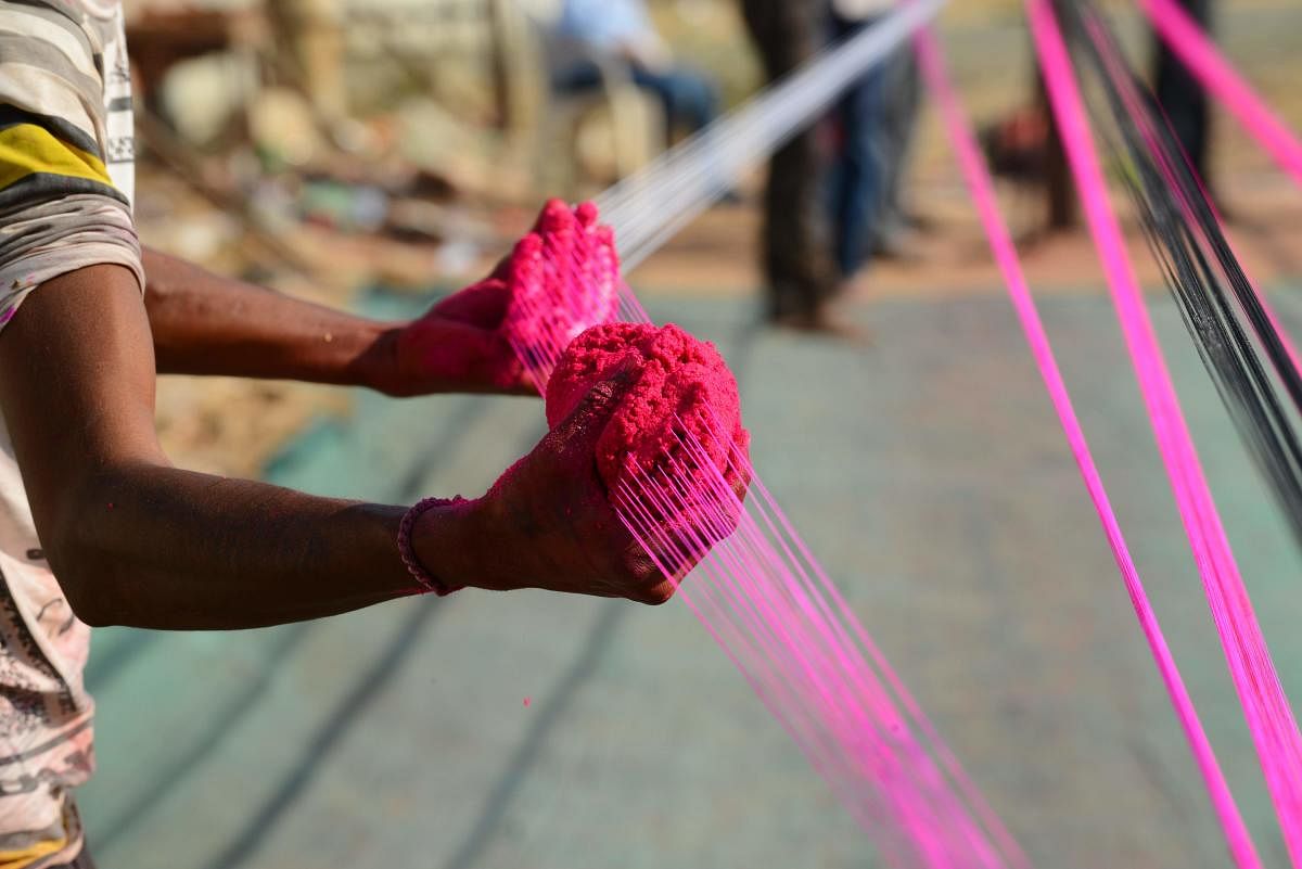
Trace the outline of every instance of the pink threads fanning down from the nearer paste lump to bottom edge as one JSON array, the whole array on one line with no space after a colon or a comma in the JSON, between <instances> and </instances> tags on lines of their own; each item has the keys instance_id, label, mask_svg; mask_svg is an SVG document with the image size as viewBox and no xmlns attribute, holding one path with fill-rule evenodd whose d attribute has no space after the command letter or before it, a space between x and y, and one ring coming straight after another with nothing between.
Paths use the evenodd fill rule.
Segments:
<instances>
[{"instance_id":1,"label":"pink threads fanning down from the nearer paste lump to bottom edge","mask_svg":"<svg viewBox=\"0 0 1302 869\"><path fill-rule=\"evenodd\" d=\"M654 523L651 510L672 510L687 496L681 468L658 472L638 490L641 498L626 498L626 503L633 510L628 523L659 561L676 545L690 552L708 540L674 541ZM711 475L715 496L736 498L720 480ZM641 506L643 501L650 509ZM732 536L720 532L719 527L706 531L720 542L680 596L814 766L875 833L888 865L1004 865L945 784L930 751L894 709L889 692L823 615L825 604L816 604L805 591L807 579L793 574L750 515L742 515ZM732 621L740 622L734 630L728 628ZM865 783L872 788L865 790Z\"/></svg>"}]
</instances>

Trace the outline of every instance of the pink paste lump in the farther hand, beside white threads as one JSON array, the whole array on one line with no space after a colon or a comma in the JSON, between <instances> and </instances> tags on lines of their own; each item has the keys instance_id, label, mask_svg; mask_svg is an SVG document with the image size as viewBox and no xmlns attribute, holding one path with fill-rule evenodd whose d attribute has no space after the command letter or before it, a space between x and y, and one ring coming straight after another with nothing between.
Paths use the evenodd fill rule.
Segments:
<instances>
[{"instance_id":1,"label":"pink paste lump in the farther hand, beside white threads","mask_svg":"<svg viewBox=\"0 0 1302 869\"><path fill-rule=\"evenodd\" d=\"M620 258L590 202L549 200L504 264L510 302L503 336L530 369L548 369L583 329L615 319Z\"/></svg>"}]
</instances>

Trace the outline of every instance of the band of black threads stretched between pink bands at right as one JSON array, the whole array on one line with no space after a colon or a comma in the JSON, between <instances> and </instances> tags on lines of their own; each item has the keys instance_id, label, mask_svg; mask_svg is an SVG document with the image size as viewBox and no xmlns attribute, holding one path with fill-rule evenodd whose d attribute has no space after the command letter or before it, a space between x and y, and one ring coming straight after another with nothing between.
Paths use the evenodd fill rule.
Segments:
<instances>
[{"instance_id":1,"label":"band of black threads stretched between pink bands at right","mask_svg":"<svg viewBox=\"0 0 1302 869\"><path fill-rule=\"evenodd\" d=\"M1167 286L1240 437L1302 545L1302 442L1258 347L1269 359L1294 408L1302 376L1221 232L1216 211L1157 107L1128 68L1107 22L1090 0L1059 0L1068 38L1099 83L1091 113L1111 114L1113 154ZM1101 99L1099 99L1101 98ZM1236 306L1237 303L1237 306Z\"/></svg>"}]
</instances>

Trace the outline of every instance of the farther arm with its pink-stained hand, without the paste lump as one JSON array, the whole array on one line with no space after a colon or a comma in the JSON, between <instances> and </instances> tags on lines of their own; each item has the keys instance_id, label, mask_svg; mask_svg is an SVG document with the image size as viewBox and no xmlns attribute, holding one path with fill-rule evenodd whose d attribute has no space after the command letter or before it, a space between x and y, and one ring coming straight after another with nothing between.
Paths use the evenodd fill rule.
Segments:
<instances>
[{"instance_id":1,"label":"farther arm with its pink-stained hand, without the paste lump","mask_svg":"<svg viewBox=\"0 0 1302 869\"><path fill-rule=\"evenodd\" d=\"M409 323L380 323L150 248L143 264L160 373L305 380L391 395L538 393L497 332L508 295L491 281Z\"/></svg>"}]
</instances>

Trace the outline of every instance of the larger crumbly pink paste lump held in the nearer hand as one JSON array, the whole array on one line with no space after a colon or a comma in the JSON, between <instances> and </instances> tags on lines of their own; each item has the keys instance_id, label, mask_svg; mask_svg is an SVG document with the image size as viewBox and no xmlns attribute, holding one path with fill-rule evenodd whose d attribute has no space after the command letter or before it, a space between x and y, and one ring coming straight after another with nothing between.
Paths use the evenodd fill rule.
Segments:
<instances>
[{"instance_id":1,"label":"larger crumbly pink paste lump held in the nearer hand","mask_svg":"<svg viewBox=\"0 0 1302 869\"><path fill-rule=\"evenodd\" d=\"M699 524L699 510L723 506L734 523L736 501L720 497L717 472L730 489L742 490L750 434L741 424L737 381L708 341L673 324L608 323L587 329L565 349L547 384L548 425L555 428L595 384L625 364L633 367L631 385L596 442L598 471L612 503L621 506L622 483L646 480L634 475L634 467L646 472L668 467L686 484L689 503L651 510L654 516L686 513L674 519ZM685 434L694 436L699 453L684 446ZM671 457L681 464L671 467Z\"/></svg>"}]
</instances>

